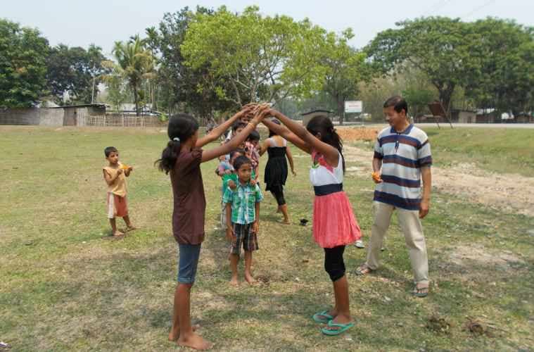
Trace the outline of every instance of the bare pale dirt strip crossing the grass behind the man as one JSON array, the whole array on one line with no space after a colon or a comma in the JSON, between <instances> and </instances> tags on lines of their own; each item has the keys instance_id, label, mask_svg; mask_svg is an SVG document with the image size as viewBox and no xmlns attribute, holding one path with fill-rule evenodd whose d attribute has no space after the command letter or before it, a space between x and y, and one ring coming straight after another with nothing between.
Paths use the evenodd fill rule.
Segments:
<instances>
[{"instance_id":1,"label":"bare pale dirt strip crossing the grass behind the man","mask_svg":"<svg viewBox=\"0 0 534 352\"><path fill-rule=\"evenodd\" d=\"M359 165L347 168L348 173L371 178L373 152L344 146L345 161ZM508 212L534 216L534 177L516 174L495 174L463 163L452 168L432 168L432 186L438 191L462 196L472 202L504 209Z\"/></svg>"}]
</instances>

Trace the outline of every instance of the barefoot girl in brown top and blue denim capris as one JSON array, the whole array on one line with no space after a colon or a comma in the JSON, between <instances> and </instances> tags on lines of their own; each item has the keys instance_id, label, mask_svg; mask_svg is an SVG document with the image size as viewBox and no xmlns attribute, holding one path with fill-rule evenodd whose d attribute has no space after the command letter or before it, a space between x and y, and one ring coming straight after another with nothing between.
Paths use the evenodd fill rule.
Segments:
<instances>
[{"instance_id":1,"label":"barefoot girl in brown top and blue denim capris","mask_svg":"<svg viewBox=\"0 0 534 352\"><path fill-rule=\"evenodd\" d=\"M170 141L156 161L161 171L170 173L174 210L172 213L172 233L179 246L178 284L174 291L174 312L170 341L179 346L189 346L199 350L210 348L208 341L193 332L190 315L191 287L195 281L201 244L204 240L205 196L202 182L201 163L229 153L243 143L261 121L259 113L267 108L249 105L236 113L210 133L198 138L198 122L186 114L172 116L167 134ZM258 112L258 117L248 122L246 127L227 144L203 151L201 148L215 141L239 118Z\"/></svg>"}]
</instances>

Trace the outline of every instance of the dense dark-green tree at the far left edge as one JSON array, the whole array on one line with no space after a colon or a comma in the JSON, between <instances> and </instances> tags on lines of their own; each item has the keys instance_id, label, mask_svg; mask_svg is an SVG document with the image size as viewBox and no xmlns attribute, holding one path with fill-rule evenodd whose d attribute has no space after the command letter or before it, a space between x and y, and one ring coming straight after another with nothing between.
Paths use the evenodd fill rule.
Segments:
<instances>
[{"instance_id":1,"label":"dense dark-green tree at the far left edge","mask_svg":"<svg viewBox=\"0 0 534 352\"><path fill-rule=\"evenodd\" d=\"M25 108L39 101L49 49L39 30L0 18L0 107Z\"/></svg>"}]
</instances>

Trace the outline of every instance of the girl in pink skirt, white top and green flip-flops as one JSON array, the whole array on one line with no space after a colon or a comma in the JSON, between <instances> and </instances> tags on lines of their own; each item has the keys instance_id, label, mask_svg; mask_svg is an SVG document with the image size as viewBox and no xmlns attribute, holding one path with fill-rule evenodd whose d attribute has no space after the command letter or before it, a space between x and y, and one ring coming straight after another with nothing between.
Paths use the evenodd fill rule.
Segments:
<instances>
[{"instance_id":1,"label":"girl in pink skirt, white top and green flip-flops","mask_svg":"<svg viewBox=\"0 0 534 352\"><path fill-rule=\"evenodd\" d=\"M278 118L286 127L265 119L269 128L312 155L310 181L314 187L313 238L324 249L324 269L333 282L336 306L313 315L313 320L327 326L323 334L338 335L354 325L350 315L348 282L345 276L343 251L362 236L347 194L343 191L343 143L332 122L317 116L306 128L274 109L262 114Z\"/></svg>"}]
</instances>

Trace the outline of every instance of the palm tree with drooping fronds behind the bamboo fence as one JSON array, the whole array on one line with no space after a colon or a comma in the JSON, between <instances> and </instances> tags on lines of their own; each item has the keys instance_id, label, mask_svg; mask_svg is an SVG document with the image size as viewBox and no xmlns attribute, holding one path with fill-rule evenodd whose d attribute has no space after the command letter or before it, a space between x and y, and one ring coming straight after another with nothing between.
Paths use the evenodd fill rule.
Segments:
<instances>
[{"instance_id":1,"label":"palm tree with drooping fronds behind the bamboo fence","mask_svg":"<svg viewBox=\"0 0 534 352\"><path fill-rule=\"evenodd\" d=\"M154 77L154 57L146 49L139 35L132 37L129 42L115 42L113 55L117 59L122 75L128 81L134 93L135 111L139 116L139 89L144 79Z\"/></svg>"}]
</instances>

